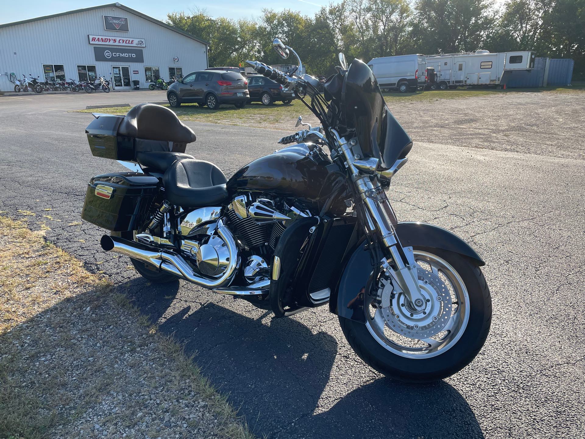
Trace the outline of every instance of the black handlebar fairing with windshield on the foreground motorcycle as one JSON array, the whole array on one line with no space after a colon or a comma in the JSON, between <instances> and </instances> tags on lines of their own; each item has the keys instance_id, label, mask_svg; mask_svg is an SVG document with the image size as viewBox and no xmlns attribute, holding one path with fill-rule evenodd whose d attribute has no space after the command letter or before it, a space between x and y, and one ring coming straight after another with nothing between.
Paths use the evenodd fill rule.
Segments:
<instances>
[{"instance_id":1,"label":"black handlebar fairing with windshield on the foreground motorcycle","mask_svg":"<svg viewBox=\"0 0 585 439\"><path fill-rule=\"evenodd\" d=\"M411 150L412 140L388 109L376 77L358 59L349 66L343 82L342 108L347 128L355 129L364 156L379 159L381 168L389 169Z\"/></svg>"}]
</instances>

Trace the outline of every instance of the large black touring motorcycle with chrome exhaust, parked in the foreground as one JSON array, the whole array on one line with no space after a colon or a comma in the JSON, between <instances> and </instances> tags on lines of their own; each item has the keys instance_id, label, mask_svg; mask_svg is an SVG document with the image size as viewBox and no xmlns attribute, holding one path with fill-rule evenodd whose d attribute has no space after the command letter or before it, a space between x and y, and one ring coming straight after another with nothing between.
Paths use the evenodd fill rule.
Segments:
<instances>
[{"instance_id":1,"label":"large black touring motorcycle with chrome exhaust, parked in the foreground","mask_svg":"<svg viewBox=\"0 0 585 439\"><path fill-rule=\"evenodd\" d=\"M273 47L303 70L290 46ZM278 141L287 146L226 179L185 154L195 133L166 107L95 114L92 155L131 171L88 183L82 218L109 231L102 249L150 282L183 279L276 317L328 304L356 354L394 379L460 371L490 329L485 263L446 229L397 220L381 182L407 163L412 140L370 68L340 53L321 94L308 74L247 63L294 91L321 126L299 117L303 129Z\"/></svg>"}]
</instances>

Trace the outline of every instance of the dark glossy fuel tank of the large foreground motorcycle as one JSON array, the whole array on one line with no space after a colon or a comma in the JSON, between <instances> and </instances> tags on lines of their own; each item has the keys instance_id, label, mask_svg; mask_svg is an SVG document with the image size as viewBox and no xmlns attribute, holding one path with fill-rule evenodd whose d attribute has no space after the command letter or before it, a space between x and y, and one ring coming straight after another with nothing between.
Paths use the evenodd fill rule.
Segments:
<instances>
[{"instance_id":1,"label":"dark glossy fuel tank of the large foreground motorcycle","mask_svg":"<svg viewBox=\"0 0 585 439\"><path fill-rule=\"evenodd\" d=\"M230 193L235 191L265 192L275 196L306 198L314 201L331 194L327 183L331 162L316 163L311 157L280 150L246 164L228 181Z\"/></svg>"}]
</instances>

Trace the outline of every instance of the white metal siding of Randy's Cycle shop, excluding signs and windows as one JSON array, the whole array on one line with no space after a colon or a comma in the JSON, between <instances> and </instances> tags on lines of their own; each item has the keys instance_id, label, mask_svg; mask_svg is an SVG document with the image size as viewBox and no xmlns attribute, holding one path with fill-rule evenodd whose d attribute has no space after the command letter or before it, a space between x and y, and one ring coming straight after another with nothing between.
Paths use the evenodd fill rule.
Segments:
<instances>
[{"instance_id":1,"label":"white metal siding of Randy's Cycle shop, excluding signs and windows","mask_svg":"<svg viewBox=\"0 0 585 439\"><path fill-rule=\"evenodd\" d=\"M128 17L130 32L104 30L104 15ZM143 38L146 41L146 47L142 49L144 63L96 61L94 44L88 42L88 35ZM11 72L17 78L22 78L23 73L27 77L32 74L44 78L43 64L63 64L67 81L69 78L77 80L77 64L94 65L98 76L106 78L111 78L112 65L130 66L130 80L139 80L143 88L148 86L144 66L159 67L160 75L166 80L168 67L182 67L185 76L190 71L208 67L206 50L203 43L121 8L108 7L61 15L0 28L0 91L13 90L14 84L5 75ZM174 57L178 57L178 63L173 61ZM137 70L138 74L133 74L133 70Z\"/></svg>"}]
</instances>

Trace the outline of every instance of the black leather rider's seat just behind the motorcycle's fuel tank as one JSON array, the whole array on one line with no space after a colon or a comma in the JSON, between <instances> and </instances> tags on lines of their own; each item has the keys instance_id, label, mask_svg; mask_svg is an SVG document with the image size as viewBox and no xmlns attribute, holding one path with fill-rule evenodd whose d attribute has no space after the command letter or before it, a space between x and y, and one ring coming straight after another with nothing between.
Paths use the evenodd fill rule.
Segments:
<instances>
[{"instance_id":1,"label":"black leather rider's seat just behind the motorcycle's fuel tank","mask_svg":"<svg viewBox=\"0 0 585 439\"><path fill-rule=\"evenodd\" d=\"M177 160L163 176L167 200L183 208L222 203L228 198L228 180L215 164L203 160Z\"/></svg>"}]
</instances>

